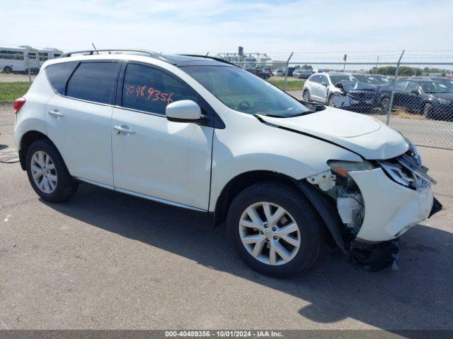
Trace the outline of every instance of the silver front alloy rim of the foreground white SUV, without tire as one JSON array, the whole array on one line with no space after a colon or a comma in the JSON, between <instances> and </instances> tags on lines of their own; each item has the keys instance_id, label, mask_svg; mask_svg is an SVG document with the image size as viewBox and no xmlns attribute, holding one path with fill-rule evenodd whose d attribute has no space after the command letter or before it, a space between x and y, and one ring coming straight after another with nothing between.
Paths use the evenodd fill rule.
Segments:
<instances>
[{"instance_id":1,"label":"silver front alloy rim of the foreground white SUV, without tire","mask_svg":"<svg viewBox=\"0 0 453 339\"><path fill-rule=\"evenodd\" d=\"M289 263L299 251L301 234L297 222L275 203L253 203L243 211L239 234L248 254L267 265Z\"/></svg>"}]
</instances>

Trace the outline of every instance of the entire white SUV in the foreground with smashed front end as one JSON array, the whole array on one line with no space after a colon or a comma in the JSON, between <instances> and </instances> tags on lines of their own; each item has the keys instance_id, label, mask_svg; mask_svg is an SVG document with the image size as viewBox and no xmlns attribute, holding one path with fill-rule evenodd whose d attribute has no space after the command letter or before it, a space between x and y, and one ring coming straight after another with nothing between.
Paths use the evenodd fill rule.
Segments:
<instances>
[{"instance_id":1,"label":"entire white SUV in the foreground with smashed front end","mask_svg":"<svg viewBox=\"0 0 453 339\"><path fill-rule=\"evenodd\" d=\"M313 266L329 239L389 266L394 239L440 209L415 147L376 119L209 57L98 53L45 62L14 104L21 166L45 201L85 182L212 213L275 276Z\"/></svg>"}]
</instances>

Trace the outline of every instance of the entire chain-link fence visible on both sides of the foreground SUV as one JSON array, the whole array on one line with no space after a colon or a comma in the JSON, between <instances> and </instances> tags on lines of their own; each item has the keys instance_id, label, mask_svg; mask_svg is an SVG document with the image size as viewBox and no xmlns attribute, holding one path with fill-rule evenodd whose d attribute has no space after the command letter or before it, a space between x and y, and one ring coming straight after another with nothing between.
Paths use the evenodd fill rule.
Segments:
<instances>
[{"instance_id":1,"label":"entire chain-link fence visible on both sides of the foreground SUV","mask_svg":"<svg viewBox=\"0 0 453 339\"><path fill-rule=\"evenodd\" d=\"M227 61L298 99L369 114L418 145L453 149L453 59L445 54L400 54L381 53L380 61L374 55L345 55L338 62L341 57L302 53L293 58L258 54ZM26 93L40 65L50 57L31 47L0 48L0 106Z\"/></svg>"}]
</instances>

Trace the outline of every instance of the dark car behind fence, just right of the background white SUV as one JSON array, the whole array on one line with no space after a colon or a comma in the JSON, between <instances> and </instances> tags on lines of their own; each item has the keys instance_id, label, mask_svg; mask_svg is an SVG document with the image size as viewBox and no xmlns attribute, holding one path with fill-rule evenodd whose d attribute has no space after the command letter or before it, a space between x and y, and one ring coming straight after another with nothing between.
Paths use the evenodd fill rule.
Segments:
<instances>
[{"instance_id":1,"label":"dark car behind fence, just right of the background white SUV","mask_svg":"<svg viewBox=\"0 0 453 339\"><path fill-rule=\"evenodd\" d=\"M333 93L333 107L347 109L357 113L369 113L379 104L377 85L357 81L343 80L336 84L339 92Z\"/></svg>"}]
</instances>

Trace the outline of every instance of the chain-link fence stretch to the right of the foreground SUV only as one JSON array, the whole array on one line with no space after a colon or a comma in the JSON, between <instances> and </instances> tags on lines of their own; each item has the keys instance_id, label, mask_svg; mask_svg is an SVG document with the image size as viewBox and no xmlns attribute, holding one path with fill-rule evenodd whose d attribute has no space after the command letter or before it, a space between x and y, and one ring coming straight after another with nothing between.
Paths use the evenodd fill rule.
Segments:
<instances>
[{"instance_id":1,"label":"chain-link fence stretch to the right of the foreground SUV only","mask_svg":"<svg viewBox=\"0 0 453 339\"><path fill-rule=\"evenodd\" d=\"M418 145L453 149L453 61L378 60L235 64L298 99L368 114Z\"/></svg>"}]
</instances>

